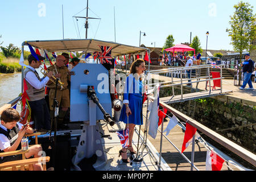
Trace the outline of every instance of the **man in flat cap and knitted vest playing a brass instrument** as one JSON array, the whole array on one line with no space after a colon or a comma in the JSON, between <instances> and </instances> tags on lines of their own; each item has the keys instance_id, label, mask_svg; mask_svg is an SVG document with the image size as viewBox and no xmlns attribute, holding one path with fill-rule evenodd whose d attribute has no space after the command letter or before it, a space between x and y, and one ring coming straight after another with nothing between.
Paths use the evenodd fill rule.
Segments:
<instances>
[{"instance_id":1,"label":"man in flat cap and knitted vest playing a brass instrument","mask_svg":"<svg viewBox=\"0 0 256 182\"><path fill-rule=\"evenodd\" d=\"M29 65L24 71L24 76L27 83L27 94L30 98L28 104L31 107L31 114L35 121L35 130L43 132L51 129L49 109L46 100L44 100L44 86L46 86L53 73L48 72L44 78L39 77L36 68L40 67L44 57L37 56L38 59L32 55L28 55Z\"/></svg>"}]
</instances>

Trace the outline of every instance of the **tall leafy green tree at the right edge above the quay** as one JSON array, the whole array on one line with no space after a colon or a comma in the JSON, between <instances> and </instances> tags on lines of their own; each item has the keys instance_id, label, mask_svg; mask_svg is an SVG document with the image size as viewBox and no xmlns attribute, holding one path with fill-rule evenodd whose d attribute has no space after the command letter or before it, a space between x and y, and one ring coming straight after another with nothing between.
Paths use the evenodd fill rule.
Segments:
<instances>
[{"instance_id":1,"label":"tall leafy green tree at the right edge above the quay","mask_svg":"<svg viewBox=\"0 0 256 182\"><path fill-rule=\"evenodd\" d=\"M256 16L253 14L253 6L247 2L240 1L238 5L234 5L234 9L234 15L230 16L230 28L227 28L226 32L231 37L234 51L240 53L239 63L241 63L242 52L244 50L249 51L253 47L251 41L255 39L256 35L256 26L254 24ZM241 85L241 68L239 78L238 85Z\"/></svg>"}]
</instances>

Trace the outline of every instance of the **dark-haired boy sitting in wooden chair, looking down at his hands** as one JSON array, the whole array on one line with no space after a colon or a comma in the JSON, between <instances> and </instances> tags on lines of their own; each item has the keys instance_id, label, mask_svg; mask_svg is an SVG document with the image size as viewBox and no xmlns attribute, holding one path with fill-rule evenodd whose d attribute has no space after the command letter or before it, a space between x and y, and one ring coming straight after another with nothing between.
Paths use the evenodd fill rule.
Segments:
<instances>
[{"instance_id":1,"label":"dark-haired boy sitting in wooden chair, looking down at his hands","mask_svg":"<svg viewBox=\"0 0 256 182\"><path fill-rule=\"evenodd\" d=\"M21 150L21 140L25 133L32 134L34 130L28 125L23 126L18 121L20 115L18 111L13 108L6 109L1 114L0 125L0 152L10 152L15 150ZM28 147L28 152L25 154L26 158L34 156L39 158L42 154L42 147L39 144ZM21 160L22 155L5 156L0 158L0 163L8 162L11 160ZM42 164L34 164L35 171L42 171Z\"/></svg>"}]
</instances>

